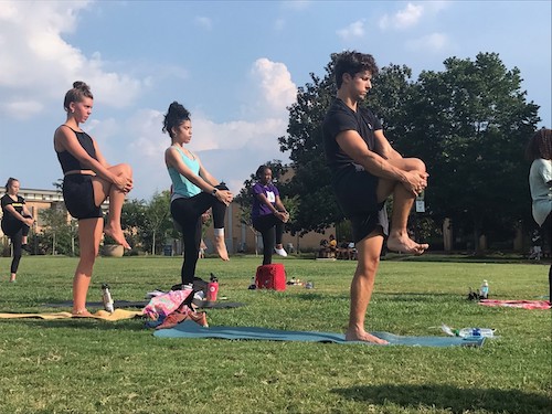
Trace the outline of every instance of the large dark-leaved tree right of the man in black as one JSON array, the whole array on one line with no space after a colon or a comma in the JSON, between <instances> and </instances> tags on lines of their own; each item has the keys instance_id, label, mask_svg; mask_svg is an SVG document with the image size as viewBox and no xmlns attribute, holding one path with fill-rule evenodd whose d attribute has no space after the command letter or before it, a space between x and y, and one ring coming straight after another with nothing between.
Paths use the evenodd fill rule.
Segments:
<instances>
[{"instance_id":1,"label":"large dark-leaved tree right of the man in black","mask_svg":"<svg viewBox=\"0 0 552 414\"><path fill-rule=\"evenodd\" d=\"M426 202L435 217L473 231L475 246L481 233L503 240L527 217L522 155L539 107L526 102L520 71L508 71L496 53L444 65L444 72L423 72L406 95L412 116L397 119L405 127L396 146L426 162Z\"/></svg>"}]
</instances>

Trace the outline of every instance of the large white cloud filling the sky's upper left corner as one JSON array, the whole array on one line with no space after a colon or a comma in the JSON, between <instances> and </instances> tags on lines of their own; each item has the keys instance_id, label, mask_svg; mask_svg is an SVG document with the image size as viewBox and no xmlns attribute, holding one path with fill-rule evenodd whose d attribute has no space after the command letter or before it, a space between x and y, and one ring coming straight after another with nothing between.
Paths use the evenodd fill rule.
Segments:
<instances>
[{"instance_id":1,"label":"large white cloud filling the sky's upper left corner","mask_svg":"<svg viewBox=\"0 0 552 414\"><path fill-rule=\"evenodd\" d=\"M140 93L141 81L106 70L99 53L87 57L63 39L88 6L88 1L2 1L0 94L7 115L18 102L60 102L77 79L91 85L97 102L112 107L127 106ZM36 108L29 108L26 116ZM25 110L21 114L25 116Z\"/></svg>"}]
</instances>

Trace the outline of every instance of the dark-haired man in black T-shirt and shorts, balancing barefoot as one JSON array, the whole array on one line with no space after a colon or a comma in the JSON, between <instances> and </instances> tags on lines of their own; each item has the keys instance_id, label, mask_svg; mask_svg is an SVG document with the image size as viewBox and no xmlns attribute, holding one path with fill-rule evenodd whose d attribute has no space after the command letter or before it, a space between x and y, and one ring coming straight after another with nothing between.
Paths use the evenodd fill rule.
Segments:
<instances>
[{"instance_id":1,"label":"dark-haired man in black T-shirt and shorts, balancing barefoot","mask_svg":"<svg viewBox=\"0 0 552 414\"><path fill-rule=\"evenodd\" d=\"M384 204L393 194L389 250L424 253L428 245L411 240L406 223L416 195L427 187L428 174L420 159L403 158L396 152L383 135L379 118L360 106L376 74L378 65L370 54L347 51L337 56L338 92L322 124L322 139L333 191L343 214L351 221L358 251L346 339L386 343L364 328L388 233Z\"/></svg>"}]
</instances>

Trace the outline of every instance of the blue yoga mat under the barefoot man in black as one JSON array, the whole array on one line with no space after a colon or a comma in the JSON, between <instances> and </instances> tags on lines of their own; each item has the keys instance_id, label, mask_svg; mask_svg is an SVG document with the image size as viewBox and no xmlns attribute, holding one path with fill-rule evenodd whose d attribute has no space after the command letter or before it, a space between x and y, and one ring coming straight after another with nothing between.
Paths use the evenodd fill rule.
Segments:
<instances>
[{"instance_id":1,"label":"blue yoga mat under the barefoot man in black","mask_svg":"<svg viewBox=\"0 0 552 414\"><path fill-rule=\"evenodd\" d=\"M256 339L266 341L304 341L304 342L333 342L333 343L363 343L346 341L344 335L332 332L288 331L256 327L210 327L203 328L198 323L185 320L174 328L156 330L158 338L219 338L219 339ZM372 332L390 344L411 347L481 347L485 338L456 337L402 337L389 332Z\"/></svg>"}]
</instances>

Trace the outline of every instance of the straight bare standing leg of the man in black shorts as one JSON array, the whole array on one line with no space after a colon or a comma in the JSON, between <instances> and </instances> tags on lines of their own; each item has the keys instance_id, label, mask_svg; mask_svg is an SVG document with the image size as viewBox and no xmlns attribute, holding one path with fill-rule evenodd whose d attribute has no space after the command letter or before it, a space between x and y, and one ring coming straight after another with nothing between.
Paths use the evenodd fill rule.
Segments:
<instances>
[{"instance_id":1,"label":"straight bare standing leg of the man in black shorts","mask_svg":"<svg viewBox=\"0 0 552 414\"><path fill-rule=\"evenodd\" d=\"M383 235L381 235L380 231L371 233L357 243L359 262L351 283L349 327L346 331L346 340L348 341L388 344L388 341L374 337L367 332L364 328L364 319L372 297L382 245Z\"/></svg>"}]
</instances>

